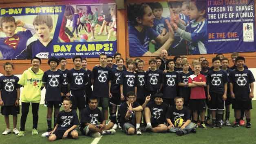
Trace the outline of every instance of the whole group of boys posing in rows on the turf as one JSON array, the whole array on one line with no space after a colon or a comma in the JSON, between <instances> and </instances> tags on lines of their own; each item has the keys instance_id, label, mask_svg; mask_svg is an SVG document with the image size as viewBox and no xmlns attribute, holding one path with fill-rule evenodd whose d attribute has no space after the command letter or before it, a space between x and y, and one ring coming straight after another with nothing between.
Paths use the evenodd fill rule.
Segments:
<instances>
[{"instance_id":1,"label":"whole group of boys posing in rows on the turf","mask_svg":"<svg viewBox=\"0 0 256 144\"><path fill-rule=\"evenodd\" d=\"M50 70L45 72L39 69L40 58L34 57L31 59L32 67L24 71L20 80L12 75L13 65L8 62L4 64L6 75L0 77L0 105L7 129L3 134L11 133L11 114L14 122L13 132L18 134L18 137L24 136L31 103L32 135L38 135L38 108L43 88L46 88L44 100L47 106L46 120L50 141L66 137L78 138L78 132L75 130L78 125L83 135L93 137L114 134L118 126L128 135L141 135L142 116L146 131L170 131L177 135L195 133L197 126L207 128L206 98L213 128L222 127L225 103L230 105L231 102L236 118L233 127L239 126L242 111L246 116L246 127L251 127L250 110L255 80L252 72L244 68L245 59L242 56L236 56L234 67L237 68L234 71L228 69L227 58L221 59L218 56L212 59L212 68L203 64L207 60L201 60L201 63L199 60L193 60L190 65L185 57L175 56L174 59L165 59L164 65L167 67L161 69L161 58L159 62L152 58L149 60L150 67L147 71L143 70L144 62L141 59L128 59L125 67L121 54L116 53L113 57L100 54L99 64L92 71L87 69L87 60L80 56L73 58L74 67L70 70L66 69L65 58L58 60L53 57L48 61ZM59 63L61 66L57 69ZM18 131L16 124L21 86L24 88ZM60 112L61 105L64 110ZM98 106L102 109L99 110ZM230 124L227 122L228 118L229 106L226 105L227 125Z\"/></svg>"}]
</instances>

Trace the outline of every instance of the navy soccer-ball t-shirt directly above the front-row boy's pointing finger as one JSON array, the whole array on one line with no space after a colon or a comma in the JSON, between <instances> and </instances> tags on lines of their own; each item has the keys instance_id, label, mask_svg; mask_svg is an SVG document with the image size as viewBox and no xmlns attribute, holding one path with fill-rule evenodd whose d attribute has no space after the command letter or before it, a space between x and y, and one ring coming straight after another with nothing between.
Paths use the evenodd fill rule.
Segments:
<instances>
[{"instance_id":1,"label":"navy soccer-ball t-shirt directly above the front-row boy's pointing finger","mask_svg":"<svg viewBox=\"0 0 256 144\"><path fill-rule=\"evenodd\" d=\"M162 83L163 72L159 69L148 70L145 74L145 88L147 91L156 92Z\"/></svg>"}]
</instances>

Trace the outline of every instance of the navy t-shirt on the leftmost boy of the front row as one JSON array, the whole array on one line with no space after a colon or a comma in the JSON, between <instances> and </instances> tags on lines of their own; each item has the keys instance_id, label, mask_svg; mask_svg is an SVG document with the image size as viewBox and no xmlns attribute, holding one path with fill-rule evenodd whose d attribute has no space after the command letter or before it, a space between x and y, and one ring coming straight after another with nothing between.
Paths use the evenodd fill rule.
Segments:
<instances>
[{"instance_id":1,"label":"navy t-shirt on the leftmost boy of the front row","mask_svg":"<svg viewBox=\"0 0 256 144\"><path fill-rule=\"evenodd\" d=\"M66 131L73 127L73 125L79 125L79 120L77 113L75 110L72 110L70 112L65 112L62 110L59 112L57 117L57 130L56 131Z\"/></svg>"}]
</instances>

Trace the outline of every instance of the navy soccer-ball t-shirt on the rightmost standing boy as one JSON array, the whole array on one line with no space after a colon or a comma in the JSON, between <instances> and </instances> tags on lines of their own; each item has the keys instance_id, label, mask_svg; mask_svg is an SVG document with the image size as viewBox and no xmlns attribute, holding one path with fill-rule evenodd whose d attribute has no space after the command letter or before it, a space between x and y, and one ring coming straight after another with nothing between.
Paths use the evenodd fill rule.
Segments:
<instances>
[{"instance_id":1,"label":"navy soccer-ball t-shirt on the rightmost standing boy","mask_svg":"<svg viewBox=\"0 0 256 144\"><path fill-rule=\"evenodd\" d=\"M238 69L235 69L230 73L230 82L233 84L233 92L236 100L250 100L250 84L255 82L252 71L248 69L238 71Z\"/></svg>"}]
</instances>

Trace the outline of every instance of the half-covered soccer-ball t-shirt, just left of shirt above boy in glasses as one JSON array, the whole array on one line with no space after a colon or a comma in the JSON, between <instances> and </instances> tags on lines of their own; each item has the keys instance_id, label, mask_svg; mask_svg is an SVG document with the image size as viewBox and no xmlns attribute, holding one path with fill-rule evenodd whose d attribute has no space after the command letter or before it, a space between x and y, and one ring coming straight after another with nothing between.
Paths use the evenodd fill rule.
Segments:
<instances>
[{"instance_id":1,"label":"half-covered soccer-ball t-shirt, just left of shirt above boy in glasses","mask_svg":"<svg viewBox=\"0 0 256 144\"><path fill-rule=\"evenodd\" d=\"M124 70L112 69L111 72L111 93L120 93L120 77Z\"/></svg>"}]
</instances>

